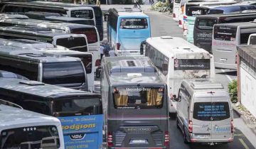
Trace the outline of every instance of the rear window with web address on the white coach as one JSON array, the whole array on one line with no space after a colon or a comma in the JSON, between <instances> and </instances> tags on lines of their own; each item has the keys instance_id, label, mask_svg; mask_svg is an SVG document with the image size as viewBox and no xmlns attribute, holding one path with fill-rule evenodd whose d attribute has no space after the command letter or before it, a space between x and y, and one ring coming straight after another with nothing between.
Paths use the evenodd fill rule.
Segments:
<instances>
[{"instance_id":1,"label":"rear window with web address on the white coach","mask_svg":"<svg viewBox=\"0 0 256 149\"><path fill-rule=\"evenodd\" d=\"M210 59L174 60L174 78L193 79L210 77Z\"/></svg>"}]
</instances>

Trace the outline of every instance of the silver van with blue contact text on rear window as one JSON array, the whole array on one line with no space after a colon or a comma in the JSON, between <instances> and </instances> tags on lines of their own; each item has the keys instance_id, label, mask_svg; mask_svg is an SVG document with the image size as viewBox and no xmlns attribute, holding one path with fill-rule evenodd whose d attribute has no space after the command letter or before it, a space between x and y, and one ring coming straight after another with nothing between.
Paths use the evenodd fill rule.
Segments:
<instances>
[{"instance_id":1,"label":"silver van with blue contact text on rear window","mask_svg":"<svg viewBox=\"0 0 256 149\"><path fill-rule=\"evenodd\" d=\"M177 128L185 143L233 141L233 110L222 84L210 79L184 79L176 101Z\"/></svg>"}]
</instances>

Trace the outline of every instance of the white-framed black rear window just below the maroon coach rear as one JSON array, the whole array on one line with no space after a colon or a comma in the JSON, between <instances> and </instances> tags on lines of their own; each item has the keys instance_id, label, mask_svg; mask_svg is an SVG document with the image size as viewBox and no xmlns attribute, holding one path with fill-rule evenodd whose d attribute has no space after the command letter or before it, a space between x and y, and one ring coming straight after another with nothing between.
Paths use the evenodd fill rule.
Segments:
<instances>
[{"instance_id":1,"label":"white-framed black rear window just below the maroon coach rear","mask_svg":"<svg viewBox=\"0 0 256 149\"><path fill-rule=\"evenodd\" d=\"M87 52L87 44L84 37L59 38L56 40L56 45L61 45L65 48L69 48L70 50Z\"/></svg>"}]
</instances>

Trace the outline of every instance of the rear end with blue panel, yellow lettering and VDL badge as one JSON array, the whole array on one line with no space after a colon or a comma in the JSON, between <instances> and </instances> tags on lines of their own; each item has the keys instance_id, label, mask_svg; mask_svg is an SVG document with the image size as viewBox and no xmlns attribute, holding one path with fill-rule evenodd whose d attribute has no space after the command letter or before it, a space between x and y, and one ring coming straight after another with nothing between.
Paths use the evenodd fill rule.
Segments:
<instances>
[{"instance_id":1,"label":"rear end with blue panel, yellow lettering and VDL badge","mask_svg":"<svg viewBox=\"0 0 256 149\"><path fill-rule=\"evenodd\" d=\"M65 148L102 148L103 114L100 99L53 102L63 128Z\"/></svg>"}]
</instances>

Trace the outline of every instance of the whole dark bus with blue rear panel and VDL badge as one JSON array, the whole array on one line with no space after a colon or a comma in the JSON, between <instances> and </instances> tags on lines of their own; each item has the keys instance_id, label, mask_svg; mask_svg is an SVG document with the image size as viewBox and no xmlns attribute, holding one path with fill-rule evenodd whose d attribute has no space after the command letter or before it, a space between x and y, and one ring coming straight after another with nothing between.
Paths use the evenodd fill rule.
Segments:
<instances>
[{"instance_id":1,"label":"whole dark bus with blue rear panel and VDL badge","mask_svg":"<svg viewBox=\"0 0 256 149\"><path fill-rule=\"evenodd\" d=\"M23 109L57 117L63 129L65 148L102 148L100 94L42 82L0 78L0 98L18 104ZM40 121L37 123L42 125ZM63 140L60 143L63 144Z\"/></svg>"}]
</instances>

